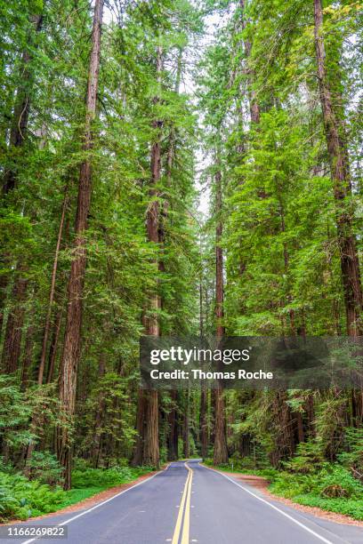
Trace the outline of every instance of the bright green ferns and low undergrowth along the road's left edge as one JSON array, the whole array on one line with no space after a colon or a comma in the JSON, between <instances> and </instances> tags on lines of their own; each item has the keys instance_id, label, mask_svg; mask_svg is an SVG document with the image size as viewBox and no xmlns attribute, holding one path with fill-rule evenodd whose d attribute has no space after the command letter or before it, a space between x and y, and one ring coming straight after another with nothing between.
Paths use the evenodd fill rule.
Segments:
<instances>
[{"instance_id":1,"label":"bright green ferns and low undergrowth along the road's left edge","mask_svg":"<svg viewBox=\"0 0 363 544\"><path fill-rule=\"evenodd\" d=\"M115 485L132 482L150 470L151 467L75 469L69 492L59 486L28 480L20 473L0 471L0 522L56 512Z\"/></svg>"}]
</instances>

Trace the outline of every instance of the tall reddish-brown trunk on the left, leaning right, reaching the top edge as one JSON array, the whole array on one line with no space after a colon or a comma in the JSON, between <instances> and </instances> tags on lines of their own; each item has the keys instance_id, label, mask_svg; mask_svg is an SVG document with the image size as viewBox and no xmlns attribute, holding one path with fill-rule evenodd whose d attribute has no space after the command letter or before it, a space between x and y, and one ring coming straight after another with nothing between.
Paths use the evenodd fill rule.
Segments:
<instances>
[{"instance_id":1,"label":"tall reddish-brown trunk on the left, leaning right, reaching the top edge","mask_svg":"<svg viewBox=\"0 0 363 544\"><path fill-rule=\"evenodd\" d=\"M103 0L96 0L93 13L92 52L85 100L85 152L90 151L93 147L92 122L96 115L102 12ZM91 185L91 161L87 157L81 164L79 174L75 226L76 240L69 275L67 320L61 357L60 402L70 420L73 419L76 404L77 366L81 348L82 297L86 264L85 230L87 228L87 216L91 204ZM64 470L64 489L68 490L71 487L71 444L69 428L66 426L60 429L58 455L60 464Z\"/></svg>"}]
</instances>

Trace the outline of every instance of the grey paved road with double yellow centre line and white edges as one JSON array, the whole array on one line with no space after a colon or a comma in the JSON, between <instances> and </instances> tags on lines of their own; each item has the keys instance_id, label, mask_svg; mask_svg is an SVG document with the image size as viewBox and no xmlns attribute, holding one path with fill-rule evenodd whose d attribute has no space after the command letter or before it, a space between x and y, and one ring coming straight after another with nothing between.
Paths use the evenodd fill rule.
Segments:
<instances>
[{"instance_id":1,"label":"grey paved road with double yellow centre line and white edges","mask_svg":"<svg viewBox=\"0 0 363 544\"><path fill-rule=\"evenodd\" d=\"M363 544L363 528L334 524L190 460L175 462L93 508L28 524L62 524L64 544ZM25 526L26 524L22 524ZM0 544L55 540L9 540Z\"/></svg>"}]
</instances>

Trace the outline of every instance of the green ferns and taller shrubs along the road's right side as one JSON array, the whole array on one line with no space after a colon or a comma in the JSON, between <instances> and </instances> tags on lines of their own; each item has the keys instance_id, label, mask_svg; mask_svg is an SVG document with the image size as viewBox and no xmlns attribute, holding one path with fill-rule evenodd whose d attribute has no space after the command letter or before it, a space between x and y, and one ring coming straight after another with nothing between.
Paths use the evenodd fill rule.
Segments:
<instances>
[{"instance_id":1,"label":"green ferns and taller shrubs along the road's right side","mask_svg":"<svg viewBox=\"0 0 363 544\"><path fill-rule=\"evenodd\" d=\"M338 455L336 462L324 460L318 444L301 444L292 460L273 468L265 457L240 458L238 454L215 468L222 471L262 476L272 494L308 507L363 520L363 432L345 429L351 452ZM206 459L214 466L213 459Z\"/></svg>"}]
</instances>

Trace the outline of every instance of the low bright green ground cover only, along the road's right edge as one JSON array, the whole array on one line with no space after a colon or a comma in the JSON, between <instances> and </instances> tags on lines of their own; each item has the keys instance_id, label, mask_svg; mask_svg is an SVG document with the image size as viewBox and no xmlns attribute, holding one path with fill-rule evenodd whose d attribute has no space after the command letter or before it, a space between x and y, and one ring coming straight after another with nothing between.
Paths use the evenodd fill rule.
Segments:
<instances>
[{"instance_id":1,"label":"low bright green ground cover only, along the road's right edge","mask_svg":"<svg viewBox=\"0 0 363 544\"><path fill-rule=\"evenodd\" d=\"M212 460L205 460L213 466ZM328 512L363 520L363 484L338 463L322 463L315 472L299 473L275 468L251 468L246 463L223 464L218 467L235 473L263 476L269 480L269 491L303 506L318 507ZM290 466L291 468L291 466Z\"/></svg>"}]
</instances>

